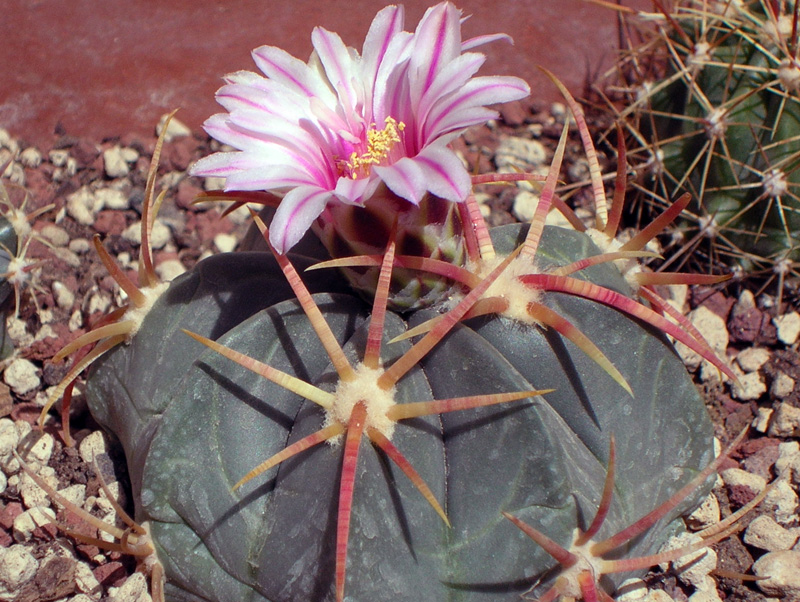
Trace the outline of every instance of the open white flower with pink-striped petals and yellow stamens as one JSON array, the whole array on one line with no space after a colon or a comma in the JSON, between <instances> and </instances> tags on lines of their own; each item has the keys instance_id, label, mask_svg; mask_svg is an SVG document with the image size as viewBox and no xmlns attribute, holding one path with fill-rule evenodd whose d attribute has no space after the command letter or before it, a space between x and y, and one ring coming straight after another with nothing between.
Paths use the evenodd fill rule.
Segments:
<instances>
[{"instance_id":1,"label":"open white flower with pink-striped petals and yellow stamens","mask_svg":"<svg viewBox=\"0 0 800 602\"><path fill-rule=\"evenodd\" d=\"M486 105L523 98L516 77L475 77L485 60L469 52L506 38L461 39L461 11L427 10L414 33L403 7L375 17L361 54L321 27L303 63L274 46L253 51L264 76L240 71L217 92L228 111L206 131L238 151L198 161L197 176L226 178L227 191L282 197L270 225L281 253L297 243L329 203L363 205L383 184L419 204L427 193L460 202L469 174L447 144L497 116Z\"/></svg>"}]
</instances>

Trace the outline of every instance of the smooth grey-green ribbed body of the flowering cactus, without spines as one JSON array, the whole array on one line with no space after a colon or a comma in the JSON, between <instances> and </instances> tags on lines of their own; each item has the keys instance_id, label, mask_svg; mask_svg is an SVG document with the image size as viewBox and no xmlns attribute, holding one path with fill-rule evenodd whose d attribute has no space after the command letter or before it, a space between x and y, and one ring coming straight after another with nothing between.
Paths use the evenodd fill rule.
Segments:
<instances>
[{"instance_id":1,"label":"smooth grey-green ribbed body of the flowering cactus, without spines","mask_svg":"<svg viewBox=\"0 0 800 602\"><path fill-rule=\"evenodd\" d=\"M513 250L525 232L519 225L494 230L498 252ZM585 235L546 228L537 259L546 267L596 253ZM611 265L583 275L628 290ZM338 343L358 360L369 308L343 292L333 272L310 272L304 280ZM330 360L283 282L266 254L201 262L172 284L131 343L99 360L90 377L91 410L125 449L136 519L150 523L168 599L334 598L343 446L315 446L233 490L260 462L319 429L324 417L317 405L180 330L333 390ZM618 476L604 526L609 533L656 507L710 460L702 401L662 336L583 299L554 293L545 303L603 350L634 396L559 335L496 316L457 325L399 380L398 403L555 391L398 423L392 442L440 501L450 528L395 464L362 442L346 599L517 600L552 561L501 512L566 545L596 507L612 433ZM411 344L388 341L433 315L432 309L387 314L383 365ZM676 516L627 552L657 549Z\"/></svg>"}]
</instances>

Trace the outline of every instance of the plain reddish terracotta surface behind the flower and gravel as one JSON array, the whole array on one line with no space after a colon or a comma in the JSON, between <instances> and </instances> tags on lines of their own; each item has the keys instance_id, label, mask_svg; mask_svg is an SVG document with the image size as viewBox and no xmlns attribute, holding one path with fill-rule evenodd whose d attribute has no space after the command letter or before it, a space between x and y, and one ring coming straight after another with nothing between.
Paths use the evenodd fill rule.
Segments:
<instances>
[{"instance_id":1,"label":"plain reddish terracotta surface behind the flower and gravel","mask_svg":"<svg viewBox=\"0 0 800 602\"><path fill-rule=\"evenodd\" d=\"M413 30L434 0L406 2ZM361 47L383 0L4 0L0 17L0 127L48 148L59 134L96 141L150 135L181 107L192 128L217 111L225 73L255 69L250 51L281 46L307 58L315 25ZM630 3L630 2L626 2ZM641 5L641 2L639 3ZM536 65L574 93L607 66L616 17L582 0L461 0L465 36L506 32L484 47L484 73L517 75L545 100L558 94Z\"/></svg>"}]
</instances>

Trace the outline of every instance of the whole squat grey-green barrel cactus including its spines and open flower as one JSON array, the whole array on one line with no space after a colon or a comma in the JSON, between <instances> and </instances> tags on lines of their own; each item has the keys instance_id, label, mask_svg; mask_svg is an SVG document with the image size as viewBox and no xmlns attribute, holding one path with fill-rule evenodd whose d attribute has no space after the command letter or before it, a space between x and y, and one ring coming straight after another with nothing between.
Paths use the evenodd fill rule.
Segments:
<instances>
[{"instance_id":1,"label":"whole squat grey-green barrel cactus including its spines and open flower","mask_svg":"<svg viewBox=\"0 0 800 602\"><path fill-rule=\"evenodd\" d=\"M462 43L449 3L414 34L388 7L363 56L318 29L308 65L262 48L268 77L240 72L220 92L231 113L208 129L240 150L195 170L225 176L237 203L278 205L269 229L254 218L270 252L214 256L176 279L124 344L92 357L86 387L125 450L168 600L517 600L545 591L553 562L506 516L564 547L601 499L600 535L656 508L652 528L616 541L615 553L646 556L706 490L692 478L711 460L711 424L660 331L729 372L724 362L638 300L614 263L636 251L545 227L557 167L530 225L489 230L445 146L491 115L484 104L524 87L471 78L481 60L462 50L496 37ZM270 121L286 116L276 111L287 87L284 108L309 112ZM387 89L414 108L377 152L386 127L375 123L398 109L377 102ZM399 250L402 230L424 222L391 219L381 239L353 227L373 198L361 195L379 189L388 207L428 195L455 206L448 231L462 233L451 248L463 253ZM336 222L341 207L354 222ZM374 270L373 284L307 270L321 259L303 254L309 229L323 243L368 239L366 255L337 261ZM446 284L401 282L397 302L396 270ZM409 291L422 306L405 303Z\"/></svg>"}]
</instances>

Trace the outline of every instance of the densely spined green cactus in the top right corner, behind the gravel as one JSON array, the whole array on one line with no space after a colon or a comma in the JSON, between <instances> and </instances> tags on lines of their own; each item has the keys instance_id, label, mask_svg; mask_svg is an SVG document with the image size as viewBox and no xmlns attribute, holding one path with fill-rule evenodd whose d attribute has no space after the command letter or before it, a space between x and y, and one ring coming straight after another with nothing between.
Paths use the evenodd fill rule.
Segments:
<instances>
[{"instance_id":1,"label":"densely spined green cactus in the top right corner, behind the gravel","mask_svg":"<svg viewBox=\"0 0 800 602\"><path fill-rule=\"evenodd\" d=\"M800 257L797 5L654 5L618 65L629 92L617 117L641 145L644 186L659 201L691 193L686 256L699 248L712 266L779 278L781 291Z\"/></svg>"}]
</instances>

